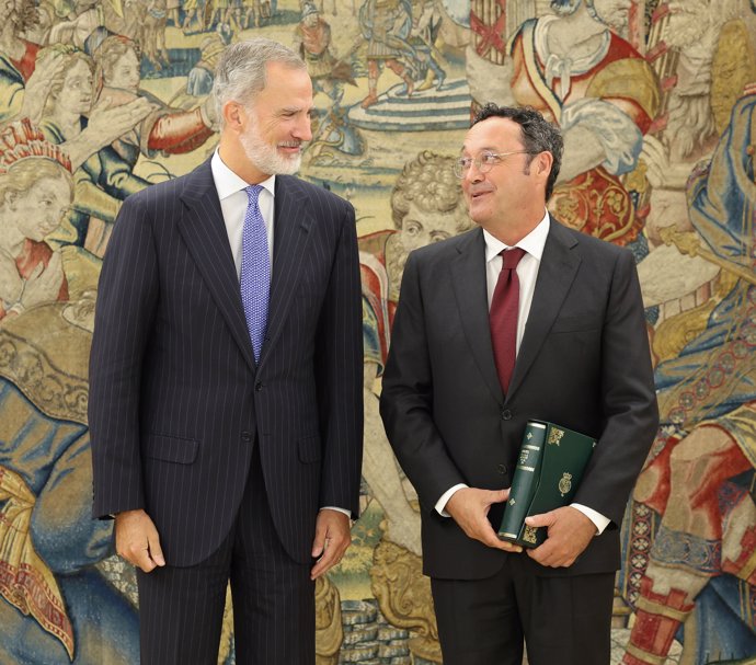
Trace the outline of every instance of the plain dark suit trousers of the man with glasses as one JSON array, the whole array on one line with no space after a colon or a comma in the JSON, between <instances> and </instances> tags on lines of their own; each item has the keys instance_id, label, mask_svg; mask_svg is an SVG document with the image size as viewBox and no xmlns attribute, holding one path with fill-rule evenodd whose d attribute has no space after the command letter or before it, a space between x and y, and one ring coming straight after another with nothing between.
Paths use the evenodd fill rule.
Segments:
<instances>
[{"instance_id":1,"label":"plain dark suit trousers of the man with glasses","mask_svg":"<svg viewBox=\"0 0 756 665\"><path fill-rule=\"evenodd\" d=\"M522 665L524 641L530 665L609 665L614 573L538 576L523 557L431 581L444 665Z\"/></svg>"}]
</instances>

